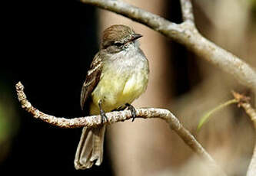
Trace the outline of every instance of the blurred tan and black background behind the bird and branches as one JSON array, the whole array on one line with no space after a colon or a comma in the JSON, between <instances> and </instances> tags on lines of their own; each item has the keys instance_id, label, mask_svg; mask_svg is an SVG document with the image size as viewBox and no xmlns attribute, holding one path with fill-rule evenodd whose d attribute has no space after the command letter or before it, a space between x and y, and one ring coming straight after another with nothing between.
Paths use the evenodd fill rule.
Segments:
<instances>
[{"instance_id":1,"label":"blurred tan and black background behind the bird and branches","mask_svg":"<svg viewBox=\"0 0 256 176\"><path fill-rule=\"evenodd\" d=\"M178 0L128 0L176 23ZM15 83L42 112L82 116L80 91L98 52L101 32L126 24L143 34L148 57L148 89L136 107L170 109L229 175L244 175L254 146L253 126L244 111L228 106L214 113L201 131L201 116L228 99L231 90L255 95L233 77L194 56L180 44L127 18L78 1L11 2L4 19L0 69L0 174L214 175L197 155L158 119L108 126L100 167L75 171L81 129L58 129L33 119L19 105ZM256 1L194 0L198 30L216 44L256 67ZM8 17L8 18L7 18Z\"/></svg>"}]
</instances>

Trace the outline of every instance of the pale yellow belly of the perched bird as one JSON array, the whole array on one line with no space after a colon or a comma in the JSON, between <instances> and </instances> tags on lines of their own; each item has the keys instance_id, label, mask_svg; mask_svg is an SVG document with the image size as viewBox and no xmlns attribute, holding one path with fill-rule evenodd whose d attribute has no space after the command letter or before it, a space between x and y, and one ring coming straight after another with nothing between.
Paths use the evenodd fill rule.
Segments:
<instances>
[{"instance_id":1,"label":"pale yellow belly of the perched bird","mask_svg":"<svg viewBox=\"0 0 256 176\"><path fill-rule=\"evenodd\" d=\"M145 92L147 85L147 72L122 76L105 74L91 93L90 113L99 114L98 102L100 99L105 112L124 106L125 103L132 103L141 93Z\"/></svg>"}]
</instances>

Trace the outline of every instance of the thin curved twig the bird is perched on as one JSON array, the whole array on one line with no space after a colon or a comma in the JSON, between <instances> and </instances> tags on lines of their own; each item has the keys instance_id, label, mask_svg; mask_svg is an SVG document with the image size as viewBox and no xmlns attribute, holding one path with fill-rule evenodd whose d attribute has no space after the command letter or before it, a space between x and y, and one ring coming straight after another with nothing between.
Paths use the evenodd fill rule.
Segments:
<instances>
[{"instance_id":1,"label":"thin curved twig the bird is perched on","mask_svg":"<svg viewBox=\"0 0 256 176\"><path fill-rule=\"evenodd\" d=\"M18 95L18 101L21 103L22 108L27 112L31 113L36 119L42 119L44 122L48 122L51 125L55 125L61 128L79 128L79 127L96 127L101 125L101 116L86 116L73 119L58 118L52 115L45 114L44 112L39 111L31 103L28 102L28 99L24 93L24 86L21 82L16 84L16 92ZM122 122L128 119L131 119L131 111L124 110L118 112L108 112L106 113L108 121L103 122L104 124L111 124L115 122ZM168 110L168 109L155 109L155 108L143 108L136 109L136 116L143 119L158 118L164 119L170 125L170 128L174 130L181 139L201 158L204 158L204 161L208 161L208 164L211 165L216 171L219 171L221 175L225 175L221 168L216 164L211 155L205 151L201 144L194 138L193 135L185 129L181 122Z\"/></svg>"}]
</instances>

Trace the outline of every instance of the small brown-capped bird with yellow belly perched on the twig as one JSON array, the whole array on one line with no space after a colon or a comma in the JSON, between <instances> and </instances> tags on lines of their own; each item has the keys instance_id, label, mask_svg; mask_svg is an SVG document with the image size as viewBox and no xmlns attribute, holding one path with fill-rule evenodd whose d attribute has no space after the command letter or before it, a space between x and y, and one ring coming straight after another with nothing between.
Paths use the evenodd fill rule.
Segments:
<instances>
[{"instance_id":1,"label":"small brown-capped bird with yellow belly perched on the twig","mask_svg":"<svg viewBox=\"0 0 256 176\"><path fill-rule=\"evenodd\" d=\"M90 115L128 107L133 119L136 111L131 103L144 93L148 86L148 60L141 51L138 38L131 28L115 24L103 31L100 51L92 60L85 83L81 89L80 105L89 103ZM86 169L101 165L105 125L84 127L75 154L75 168Z\"/></svg>"}]
</instances>

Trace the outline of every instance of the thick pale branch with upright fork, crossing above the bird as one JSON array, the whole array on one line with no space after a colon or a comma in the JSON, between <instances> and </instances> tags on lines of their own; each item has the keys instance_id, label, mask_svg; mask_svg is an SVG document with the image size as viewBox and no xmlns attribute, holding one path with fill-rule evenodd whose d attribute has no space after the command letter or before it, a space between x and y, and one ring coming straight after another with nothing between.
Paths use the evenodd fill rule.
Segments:
<instances>
[{"instance_id":1,"label":"thick pale branch with upright fork, crossing above the bird","mask_svg":"<svg viewBox=\"0 0 256 176\"><path fill-rule=\"evenodd\" d=\"M81 0L81 2L113 11L141 24L145 24L166 37L184 44L185 47L204 60L208 60L215 67L219 67L224 72L231 74L244 86L256 90L255 70L240 58L208 41L195 28L190 1L181 0L182 14L185 19L185 22L181 24L175 24L158 15L117 0Z\"/></svg>"}]
</instances>

